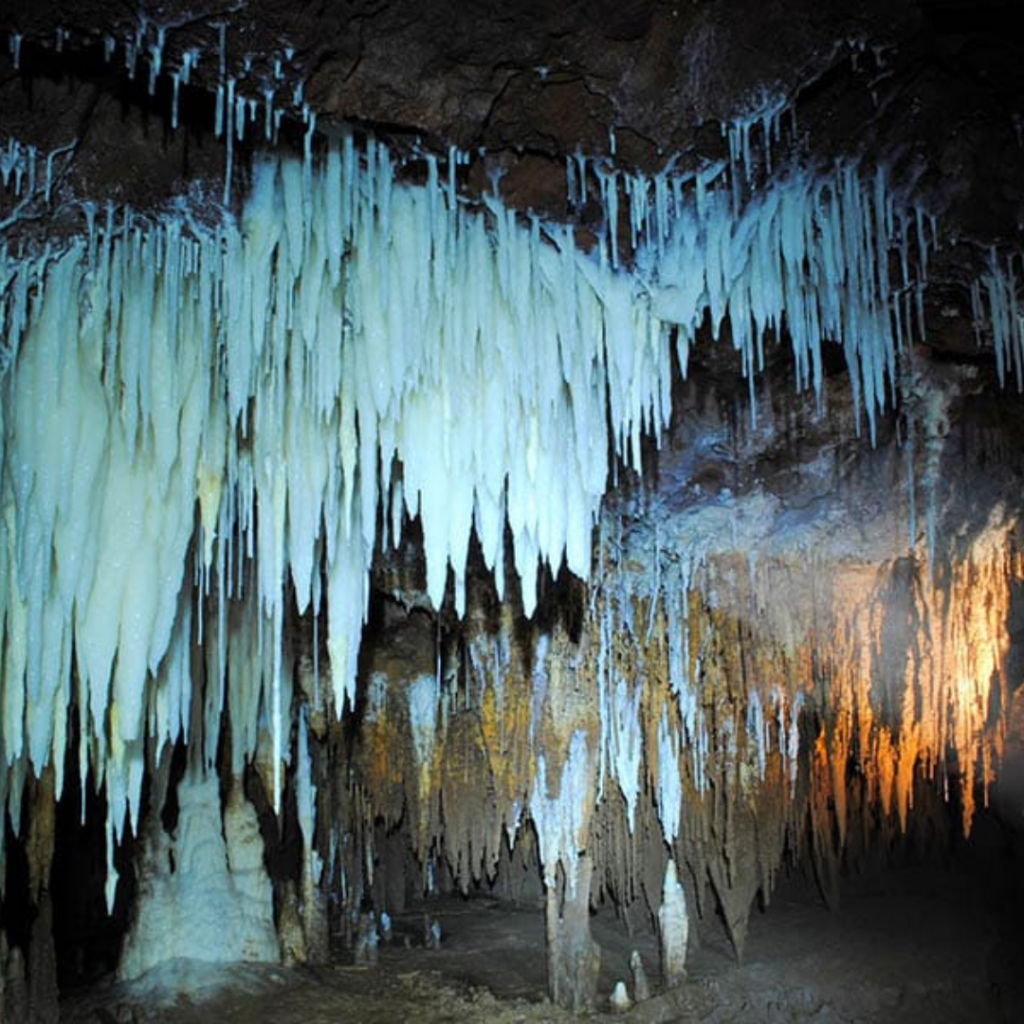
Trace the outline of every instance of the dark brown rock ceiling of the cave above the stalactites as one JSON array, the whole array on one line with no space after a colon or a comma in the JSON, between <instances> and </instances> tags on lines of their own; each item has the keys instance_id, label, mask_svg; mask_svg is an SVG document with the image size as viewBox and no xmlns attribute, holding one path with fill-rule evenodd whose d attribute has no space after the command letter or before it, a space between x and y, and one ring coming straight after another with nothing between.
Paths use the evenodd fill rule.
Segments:
<instances>
[{"instance_id":1,"label":"dark brown rock ceiling of the cave above the stalactites","mask_svg":"<svg viewBox=\"0 0 1024 1024\"><path fill-rule=\"evenodd\" d=\"M956 243L1011 242L1024 221L1024 72L996 0L4 7L19 73L7 54L2 128L40 152L74 143L66 199L144 207L222 176L212 104L230 80L260 104L254 120L273 90L293 143L312 112L327 134L361 126L398 152L456 145L478 158L468 195L501 173L506 202L558 219L566 157L613 147L625 169L696 170L728 156L725 126L784 105L780 155L885 164L939 218L948 262ZM963 344L939 333L929 343Z\"/></svg>"}]
</instances>

